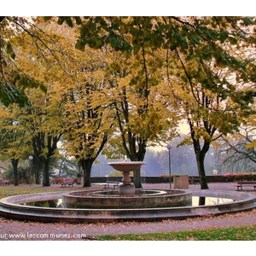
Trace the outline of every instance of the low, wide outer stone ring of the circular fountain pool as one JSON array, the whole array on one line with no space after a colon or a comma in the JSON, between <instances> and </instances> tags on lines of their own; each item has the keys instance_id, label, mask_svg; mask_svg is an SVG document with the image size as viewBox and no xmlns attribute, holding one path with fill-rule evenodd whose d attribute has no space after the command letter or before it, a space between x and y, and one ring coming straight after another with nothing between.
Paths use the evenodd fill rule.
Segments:
<instances>
[{"instance_id":1,"label":"low, wide outer stone ring of the circular fountain pool","mask_svg":"<svg viewBox=\"0 0 256 256\"><path fill-rule=\"evenodd\" d=\"M152 190L151 190L152 191ZM160 190L163 191L163 190ZM168 195L166 192L152 192L145 196ZM176 191L173 189L173 191ZM81 191L80 191L81 192ZM187 192L187 191L186 191ZM105 200L106 193L94 191L96 197ZM110 191L107 193L111 193ZM188 191L188 193L190 193ZM66 195L67 193L65 193ZM98 195L100 194L100 195ZM226 198L232 201L227 203L217 203L204 206L183 206L183 207L143 207L143 208L52 208L52 207L32 207L24 205L32 201L60 200L63 192L39 193L31 195L15 195L0 200L0 215L5 218L15 218L20 220L32 220L42 222L111 222L111 221L150 221L166 218L192 218L206 215L219 215L228 212L241 212L256 207L256 196L242 192L200 190L191 192L192 196ZM115 196L111 196L114 198ZM128 196L129 197L129 196Z\"/></svg>"}]
</instances>

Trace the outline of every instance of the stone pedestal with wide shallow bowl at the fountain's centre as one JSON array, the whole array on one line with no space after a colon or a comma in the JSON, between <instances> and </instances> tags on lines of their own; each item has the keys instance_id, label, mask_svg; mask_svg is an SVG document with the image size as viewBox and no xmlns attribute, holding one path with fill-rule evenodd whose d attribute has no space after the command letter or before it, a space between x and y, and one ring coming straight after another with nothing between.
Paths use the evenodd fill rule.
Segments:
<instances>
[{"instance_id":1,"label":"stone pedestal with wide shallow bowl at the fountain's centre","mask_svg":"<svg viewBox=\"0 0 256 256\"><path fill-rule=\"evenodd\" d=\"M122 183L119 183L119 195L135 195L135 186L131 183L130 172L140 170L140 167L145 165L145 162L109 162L108 166L112 166L116 171L123 173Z\"/></svg>"}]
</instances>

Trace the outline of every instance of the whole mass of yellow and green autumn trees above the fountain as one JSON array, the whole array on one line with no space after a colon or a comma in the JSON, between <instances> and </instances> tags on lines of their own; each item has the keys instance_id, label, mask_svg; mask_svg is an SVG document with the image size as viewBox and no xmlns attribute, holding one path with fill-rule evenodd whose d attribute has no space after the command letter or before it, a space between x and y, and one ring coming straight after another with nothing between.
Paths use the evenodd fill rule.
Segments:
<instances>
[{"instance_id":1,"label":"whole mass of yellow and green autumn trees above the fountain","mask_svg":"<svg viewBox=\"0 0 256 256\"><path fill-rule=\"evenodd\" d=\"M3 136L4 157L35 155L48 186L50 161L62 148L90 186L101 152L143 160L149 145L176 137L185 119L183 143L194 145L207 189L210 146L254 112L254 17L33 19L1 26L1 134L6 127L12 134ZM22 92L20 105L9 104L17 102L4 92L9 84Z\"/></svg>"}]
</instances>

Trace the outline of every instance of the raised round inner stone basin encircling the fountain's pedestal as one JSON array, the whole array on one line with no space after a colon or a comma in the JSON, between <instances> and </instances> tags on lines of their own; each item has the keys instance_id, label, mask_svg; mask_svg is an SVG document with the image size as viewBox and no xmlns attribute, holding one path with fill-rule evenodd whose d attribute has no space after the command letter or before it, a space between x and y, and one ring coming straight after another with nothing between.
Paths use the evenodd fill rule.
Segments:
<instances>
[{"instance_id":1,"label":"raised round inner stone basin encircling the fountain's pedestal","mask_svg":"<svg viewBox=\"0 0 256 256\"><path fill-rule=\"evenodd\" d=\"M74 191L62 195L64 207L96 209L134 209L191 206L192 193L183 190L136 189L135 195L120 196L119 191Z\"/></svg>"}]
</instances>

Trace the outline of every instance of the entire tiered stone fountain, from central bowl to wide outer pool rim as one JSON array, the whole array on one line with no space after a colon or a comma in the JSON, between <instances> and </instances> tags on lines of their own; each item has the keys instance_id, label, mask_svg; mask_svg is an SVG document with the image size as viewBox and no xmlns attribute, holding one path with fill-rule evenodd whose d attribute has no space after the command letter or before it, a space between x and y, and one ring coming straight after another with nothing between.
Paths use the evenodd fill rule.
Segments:
<instances>
[{"instance_id":1,"label":"entire tiered stone fountain, from central bowl to wide outer pool rim","mask_svg":"<svg viewBox=\"0 0 256 256\"><path fill-rule=\"evenodd\" d=\"M241 212L256 207L256 196L241 191L188 189L135 189L130 172L137 172L144 162L111 162L123 173L119 189L79 190L69 193L52 192L15 195L0 200L0 216L42 222L111 222L151 221L166 218L193 218ZM196 206L192 196L226 198L229 202ZM30 206L30 202L57 201L62 207ZM47 204L48 205L48 204Z\"/></svg>"}]
</instances>

